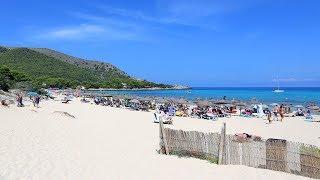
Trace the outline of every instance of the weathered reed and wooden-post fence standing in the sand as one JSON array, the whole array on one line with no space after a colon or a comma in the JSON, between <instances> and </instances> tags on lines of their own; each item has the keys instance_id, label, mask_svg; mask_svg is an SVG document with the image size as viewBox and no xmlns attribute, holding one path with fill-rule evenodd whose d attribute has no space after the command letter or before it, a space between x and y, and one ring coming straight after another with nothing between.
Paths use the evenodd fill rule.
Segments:
<instances>
[{"instance_id":1,"label":"weathered reed and wooden-post fence standing in the sand","mask_svg":"<svg viewBox=\"0 0 320 180\"><path fill-rule=\"evenodd\" d=\"M320 179L320 148L283 139L249 139L234 135L164 128L160 130L160 152L207 159L218 164L246 165Z\"/></svg>"}]
</instances>

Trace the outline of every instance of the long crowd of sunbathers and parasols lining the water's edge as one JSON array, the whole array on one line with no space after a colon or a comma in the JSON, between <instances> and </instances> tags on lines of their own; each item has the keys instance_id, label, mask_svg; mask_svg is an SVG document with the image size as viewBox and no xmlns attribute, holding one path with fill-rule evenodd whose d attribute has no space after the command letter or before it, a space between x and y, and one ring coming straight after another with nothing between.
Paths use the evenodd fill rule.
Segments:
<instances>
[{"instance_id":1,"label":"long crowd of sunbathers and parasols lining the water's edge","mask_svg":"<svg viewBox=\"0 0 320 180\"><path fill-rule=\"evenodd\" d=\"M224 98L225 99L225 98ZM151 100L138 100L138 99L121 99L117 97L93 97L94 103L97 105L128 108L138 111L155 110L155 112L168 119L173 116L180 117L193 117L201 119L214 120L219 117L243 116L243 117L266 117L269 123L272 121L283 121L285 117L292 116L306 116L311 114L310 110L292 112L290 105L275 105L269 109L266 105L246 105L237 106L235 104L220 104L220 105L191 105L179 102L162 102L159 103L154 99ZM82 100L87 102L87 100Z\"/></svg>"}]
</instances>

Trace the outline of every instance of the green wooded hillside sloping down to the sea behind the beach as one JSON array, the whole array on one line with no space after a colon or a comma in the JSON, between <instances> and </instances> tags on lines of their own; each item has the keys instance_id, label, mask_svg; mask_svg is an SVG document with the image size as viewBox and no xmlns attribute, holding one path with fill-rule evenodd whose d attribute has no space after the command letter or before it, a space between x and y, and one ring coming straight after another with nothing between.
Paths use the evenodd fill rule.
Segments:
<instances>
[{"instance_id":1,"label":"green wooded hillside sloping down to the sea behind the beach","mask_svg":"<svg viewBox=\"0 0 320 180\"><path fill-rule=\"evenodd\" d=\"M171 87L131 78L108 63L88 61L46 49L0 47L1 89L24 88L152 88ZM59 58L58 58L59 57Z\"/></svg>"}]
</instances>

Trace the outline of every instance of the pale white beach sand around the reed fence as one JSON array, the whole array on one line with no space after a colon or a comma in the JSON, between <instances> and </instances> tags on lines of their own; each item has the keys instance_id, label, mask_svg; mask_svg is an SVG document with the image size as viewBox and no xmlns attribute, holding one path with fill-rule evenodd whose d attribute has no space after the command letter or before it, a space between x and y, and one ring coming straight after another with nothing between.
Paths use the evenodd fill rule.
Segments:
<instances>
[{"instance_id":1,"label":"pale white beach sand around the reed fence","mask_svg":"<svg viewBox=\"0 0 320 180\"><path fill-rule=\"evenodd\" d=\"M0 107L0 179L305 179L245 166L218 166L159 155L153 114L78 101L42 108ZM36 111L36 112L35 112ZM53 114L67 111L76 119ZM247 132L320 145L320 124L302 119L266 125L258 119L209 122L174 118L173 128Z\"/></svg>"}]
</instances>

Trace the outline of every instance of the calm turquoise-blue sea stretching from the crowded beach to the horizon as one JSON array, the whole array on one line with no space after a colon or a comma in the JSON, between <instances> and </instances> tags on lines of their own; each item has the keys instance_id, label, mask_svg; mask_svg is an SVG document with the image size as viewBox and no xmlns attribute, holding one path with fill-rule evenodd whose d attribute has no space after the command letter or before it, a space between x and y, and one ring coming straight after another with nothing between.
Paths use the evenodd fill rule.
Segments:
<instances>
[{"instance_id":1,"label":"calm turquoise-blue sea stretching from the crowded beach to the horizon","mask_svg":"<svg viewBox=\"0 0 320 180\"><path fill-rule=\"evenodd\" d=\"M107 94L134 95L134 96L157 96L174 98L214 98L251 100L253 98L265 103L289 102L304 104L306 102L320 103L320 88L282 88L284 93L274 93L272 88L193 88L191 90L118 90L103 91Z\"/></svg>"}]
</instances>

